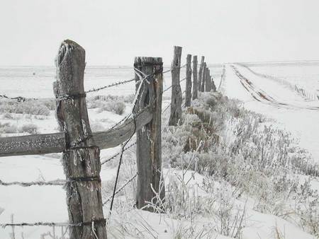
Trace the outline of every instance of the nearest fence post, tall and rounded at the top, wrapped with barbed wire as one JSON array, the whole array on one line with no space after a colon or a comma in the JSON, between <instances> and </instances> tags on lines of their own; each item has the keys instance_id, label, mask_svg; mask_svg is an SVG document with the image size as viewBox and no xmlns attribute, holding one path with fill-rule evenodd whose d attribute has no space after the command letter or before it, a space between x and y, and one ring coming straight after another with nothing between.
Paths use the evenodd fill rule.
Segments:
<instances>
[{"instance_id":1,"label":"nearest fence post, tall and rounded at the top, wrapped with barbed wire","mask_svg":"<svg viewBox=\"0 0 319 239\"><path fill-rule=\"evenodd\" d=\"M100 150L92 138L84 93L85 50L65 40L57 54L57 122L65 132L62 156L67 178L70 238L106 239L101 198Z\"/></svg>"}]
</instances>

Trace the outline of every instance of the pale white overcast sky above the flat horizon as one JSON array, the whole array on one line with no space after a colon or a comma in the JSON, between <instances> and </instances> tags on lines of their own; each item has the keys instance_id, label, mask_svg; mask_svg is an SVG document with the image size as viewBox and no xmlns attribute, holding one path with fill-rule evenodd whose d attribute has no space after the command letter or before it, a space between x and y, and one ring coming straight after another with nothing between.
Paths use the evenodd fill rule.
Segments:
<instances>
[{"instance_id":1,"label":"pale white overcast sky above the flat horizon","mask_svg":"<svg viewBox=\"0 0 319 239\"><path fill-rule=\"evenodd\" d=\"M318 0L0 0L0 65L53 65L62 40L89 65L174 45L208 63L319 59Z\"/></svg>"}]
</instances>

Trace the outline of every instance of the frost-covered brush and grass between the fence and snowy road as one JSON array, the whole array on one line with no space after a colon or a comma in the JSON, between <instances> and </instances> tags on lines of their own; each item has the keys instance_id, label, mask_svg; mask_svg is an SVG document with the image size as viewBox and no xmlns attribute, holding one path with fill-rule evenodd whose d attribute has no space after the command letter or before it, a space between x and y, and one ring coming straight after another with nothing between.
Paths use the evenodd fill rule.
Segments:
<instances>
[{"instance_id":1,"label":"frost-covered brush and grass between the fence and snowy road","mask_svg":"<svg viewBox=\"0 0 319 239\"><path fill-rule=\"evenodd\" d=\"M318 164L262 115L218 93L206 93L186 110L182 124L163 137L167 166L228 182L234 198L252 198L254 210L319 235L319 196L310 185L311 177L318 178ZM299 175L308 177L301 180Z\"/></svg>"}]
</instances>

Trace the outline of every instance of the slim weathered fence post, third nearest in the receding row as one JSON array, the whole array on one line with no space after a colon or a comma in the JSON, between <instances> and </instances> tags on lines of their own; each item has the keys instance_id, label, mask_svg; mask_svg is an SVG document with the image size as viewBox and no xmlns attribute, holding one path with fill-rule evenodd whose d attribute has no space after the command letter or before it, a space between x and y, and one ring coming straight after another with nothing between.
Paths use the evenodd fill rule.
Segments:
<instances>
[{"instance_id":1,"label":"slim weathered fence post, third nearest in the receding row","mask_svg":"<svg viewBox=\"0 0 319 239\"><path fill-rule=\"evenodd\" d=\"M181 120L181 84L179 73L181 71L181 47L174 47L174 57L172 62L172 102L169 125L177 125Z\"/></svg>"}]
</instances>

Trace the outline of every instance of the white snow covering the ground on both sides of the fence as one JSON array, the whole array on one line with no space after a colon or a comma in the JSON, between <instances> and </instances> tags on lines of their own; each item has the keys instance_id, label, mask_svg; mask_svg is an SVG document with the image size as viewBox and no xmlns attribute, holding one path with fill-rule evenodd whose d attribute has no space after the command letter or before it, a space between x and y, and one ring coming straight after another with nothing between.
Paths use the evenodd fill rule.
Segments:
<instances>
[{"instance_id":1,"label":"white snow covering the ground on both sides of the fence","mask_svg":"<svg viewBox=\"0 0 319 239\"><path fill-rule=\"evenodd\" d=\"M301 86L319 89L319 81L316 76L319 74L319 66L249 66L260 74L268 74L278 78L284 78ZM305 67L303 69L303 67ZM311 69L311 70L308 70ZM222 67L211 67L213 77L216 79L216 86L220 83ZM237 74L236 74L237 73ZM304 73L304 74L303 74ZM84 86L86 90L99 88L117 81L133 78L133 69L129 66L114 67L87 67L84 76ZM184 78L185 71L181 70L181 78ZM240 76L240 77L239 77ZM304 76L304 77L301 77ZM0 95L24 96L27 98L53 98L52 83L55 81L55 69L53 67L11 67L0 68ZM164 75L164 89L170 86L170 74ZM185 81L181 83L182 91L185 88ZM313 85L313 86L312 86ZM262 113L272 120L272 124L287 129L300 141L300 146L306 148L313 156L314 161L319 162L319 101L310 101L298 95L285 85L270 81L253 74L252 71L240 64L227 64L225 75L221 83L220 91L230 98L237 98L242 101L242 105L257 113ZM135 92L134 83L127 83L116 88L109 88L92 95L132 95ZM164 93L163 109L170 102L170 91ZM130 103L125 103L123 115L114 112L100 112L95 108L89 109L89 118L92 128L98 130L108 129L113 124L122 119L130 112ZM167 115L164 119L167 118ZM38 133L57 132L57 122L55 112L50 111L50 115L44 118L28 117L26 115L14 115L13 119L0 115L1 123L10 122L21 127L23 124L36 124ZM3 136L10 136L6 134ZM101 151L101 158L108 158L117 153L119 148L111 148ZM128 154L134 154L129 152ZM103 166L101 170L101 180L103 183L111 181L116 174L116 168ZM165 169L165 175L179 175L179 170ZM12 181L33 181L33 180L55 180L64 179L60 155L52 154L45 156L13 156L0 158L0 180L4 182ZM167 176L168 177L168 176ZM199 186L203 182L203 176L197 173L187 173L186 181L194 178L194 194L204 194ZM319 182L313 182L313 187L319 189ZM223 185L216 183L213 187L220 190ZM237 200L236 205L242 206L245 203ZM3 210L1 210L3 209ZM108 205L104 208L104 215L108 215ZM54 187L2 187L0 186L0 223L11 221L14 215L14 222L35 222L35 221L67 221L67 208L65 203L65 190L60 186ZM301 228L296 228L293 223L289 223L277 216L262 214L247 209L248 226L244 229L242 238L273 238L270 234L278 226L284 232L284 238L314 238L308 233L304 233ZM125 220L134 221L136 218L143 218L145 223L152 228L150 238L172 238L172 234L167 233L178 231L177 221L153 215L148 212L133 210L125 216ZM164 220L164 222L162 222ZM203 218L198 225L209 226L211 220ZM60 229L57 229L57 231ZM16 239L39 238L41 234L51 231L48 227L16 228ZM0 238L10 238L11 228L0 228ZM60 231L57 235L60 236ZM50 238L49 236L45 238ZM200 238L200 237L198 237ZM206 237L207 238L207 237ZM228 238L221 235L214 235L213 238Z\"/></svg>"}]
</instances>

